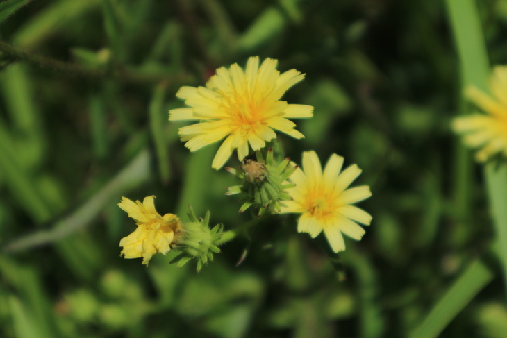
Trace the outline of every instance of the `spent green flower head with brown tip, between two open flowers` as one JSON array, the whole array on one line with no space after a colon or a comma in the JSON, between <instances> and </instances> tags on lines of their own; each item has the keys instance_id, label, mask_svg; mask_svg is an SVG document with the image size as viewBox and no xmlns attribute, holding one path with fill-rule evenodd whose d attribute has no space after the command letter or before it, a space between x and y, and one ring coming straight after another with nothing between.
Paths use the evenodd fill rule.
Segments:
<instances>
[{"instance_id":1,"label":"spent green flower head with brown tip, between two open flowers","mask_svg":"<svg viewBox=\"0 0 507 338\"><path fill-rule=\"evenodd\" d=\"M280 201L290 201L290 197L284 190L294 187L292 183L285 182L299 166L291 166L290 158L285 158L276 163L273 158L273 150L269 148L264 161L260 151L256 152L257 160L243 160L241 170L226 168L229 172L238 176L241 185L228 187L226 195L243 194L243 205L240 212L244 212L251 205L258 208L261 217L269 208L272 213L280 212Z\"/></svg>"}]
</instances>

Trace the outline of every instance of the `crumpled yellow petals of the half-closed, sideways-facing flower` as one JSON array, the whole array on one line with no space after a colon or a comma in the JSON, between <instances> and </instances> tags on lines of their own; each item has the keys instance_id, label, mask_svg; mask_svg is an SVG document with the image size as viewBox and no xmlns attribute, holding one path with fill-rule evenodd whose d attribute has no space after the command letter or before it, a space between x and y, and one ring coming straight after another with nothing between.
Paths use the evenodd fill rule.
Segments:
<instances>
[{"instance_id":1,"label":"crumpled yellow petals of the half-closed, sideways-facing flower","mask_svg":"<svg viewBox=\"0 0 507 338\"><path fill-rule=\"evenodd\" d=\"M122 201L118 203L119 208L138 224L133 233L119 242L119 246L123 247L120 256L142 257L142 264L148 264L151 256L156 253L165 255L171 249L174 233L181 228L181 223L174 214L160 216L155 210L154 198L155 196L148 196L142 203L140 201L134 203L122 197Z\"/></svg>"}]
</instances>

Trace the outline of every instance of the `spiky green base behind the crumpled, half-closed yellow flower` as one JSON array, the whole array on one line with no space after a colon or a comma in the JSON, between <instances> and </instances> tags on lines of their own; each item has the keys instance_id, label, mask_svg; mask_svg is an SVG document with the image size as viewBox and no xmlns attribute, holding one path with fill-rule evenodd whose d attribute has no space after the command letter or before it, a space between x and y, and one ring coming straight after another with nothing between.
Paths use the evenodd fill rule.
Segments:
<instances>
[{"instance_id":1,"label":"spiky green base behind the crumpled, half-closed yellow flower","mask_svg":"<svg viewBox=\"0 0 507 338\"><path fill-rule=\"evenodd\" d=\"M190 222L181 223L181 228L176 230L171 248L181 251L174 257L171 263L178 263L183 267L192 258L197 259L197 271L201 270L203 264L208 260L213 261L213 253L219 253L220 249L215 243L222 237L224 226L217 224L213 229L209 228L210 212L206 212L203 219L198 219L192 207L188 213Z\"/></svg>"}]
</instances>

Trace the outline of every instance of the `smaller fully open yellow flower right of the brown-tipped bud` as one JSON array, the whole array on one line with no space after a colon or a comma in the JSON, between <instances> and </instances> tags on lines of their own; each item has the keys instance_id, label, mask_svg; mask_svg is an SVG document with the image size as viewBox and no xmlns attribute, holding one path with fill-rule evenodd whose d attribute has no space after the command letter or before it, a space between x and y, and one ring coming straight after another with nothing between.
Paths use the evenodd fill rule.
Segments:
<instances>
[{"instance_id":1,"label":"smaller fully open yellow flower right of the brown-tipped bud","mask_svg":"<svg viewBox=\"0 0 507 338\"><path fill-rule=\"evenodd\" d=\"M345 250L342 233L361 239L366 226L372 221L364 210L351 205L372 196L369 187L347 187L356 179L361 170L356 164L351 165L340 174L343 158L336 154L329 158L324 172L315 151L303 153L303 168L297 169L290 180L296 185L287 192L293 201L283 201L281 212L301 214L297 230L299 233L310 233L315 238L324 230L331 248L335 253Z\"/></svg>"}]
</instances>

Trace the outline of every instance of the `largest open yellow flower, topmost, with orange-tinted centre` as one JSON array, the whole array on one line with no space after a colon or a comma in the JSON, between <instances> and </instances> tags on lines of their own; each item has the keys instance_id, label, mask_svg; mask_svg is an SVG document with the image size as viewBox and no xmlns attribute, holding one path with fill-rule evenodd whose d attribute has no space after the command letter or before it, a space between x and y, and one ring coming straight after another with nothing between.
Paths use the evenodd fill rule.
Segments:
<instances>
[{"instance_id":1,"label":"largest open yellow flower, topmost, with orange-tinted centre","mask_svg":"<svg viewBox=\"0 0 507 338\"><path fill-rule=\"evenodd\" d=\"M303 80L296 69L280 74L276 60L267 58L259 67L259 58L251 57L245 71L238 64L217 69L206 87L181 87L176 96L192 108L169 111L169 120L197 120L180 128L182 141L190 151L226 139L220 146L212 167L220 169L238 149L238 159L262 149L266 141L276 138L273 129L300 139L290 119L313 116L311 105L288 104L281 96Z\"/></svg>"}]
</instances>

